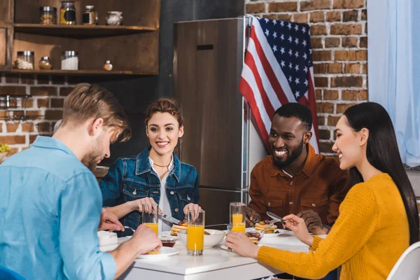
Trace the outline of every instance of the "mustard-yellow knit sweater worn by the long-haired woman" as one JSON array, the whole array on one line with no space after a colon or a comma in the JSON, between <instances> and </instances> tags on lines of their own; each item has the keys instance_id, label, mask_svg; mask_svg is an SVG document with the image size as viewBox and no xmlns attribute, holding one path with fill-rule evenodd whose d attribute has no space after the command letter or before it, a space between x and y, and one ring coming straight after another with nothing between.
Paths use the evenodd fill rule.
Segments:
<instances>
[{"instance_id":1,"label":"mustard-yellow knit sweater worn by the long-haired woman","mask_svg":"<svg viewBox=\"0 0 420 280\"><path fill-rule=\"evenodd\" d=\"M397 186L388 174L353 186L325 239L314 237L309 253L262 246L258 260L276 269L319 279L342 265L340 280L386 279L409 246L409 226Z\"/></svg>"}]
</instances>

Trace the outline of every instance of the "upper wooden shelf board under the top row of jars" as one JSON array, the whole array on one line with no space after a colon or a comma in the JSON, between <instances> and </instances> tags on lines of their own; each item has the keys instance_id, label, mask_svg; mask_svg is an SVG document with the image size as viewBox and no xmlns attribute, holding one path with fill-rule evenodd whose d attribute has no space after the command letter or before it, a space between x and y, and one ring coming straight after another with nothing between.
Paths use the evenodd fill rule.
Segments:
<instances>
[{"instance_id":1,"label":"upper wooden shelf board under the top row of jars","mask_svg":"<svg viewBox=\"0 0 420 280\"><path fill-rule=\"evenodd\" d=\"M30 23L16 23L15 31L47 36L67 38L97 38L105 36L119 36L137 34L146 31L158 31L154 27L139 26L108 26L108 25L36 25Z\"/></svg>"}]
</instances>

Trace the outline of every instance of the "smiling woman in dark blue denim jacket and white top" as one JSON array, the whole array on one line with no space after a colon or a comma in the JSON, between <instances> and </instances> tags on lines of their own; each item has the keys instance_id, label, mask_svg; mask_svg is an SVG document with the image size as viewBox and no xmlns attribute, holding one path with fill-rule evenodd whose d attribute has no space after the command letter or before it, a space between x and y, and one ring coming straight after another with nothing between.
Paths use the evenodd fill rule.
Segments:
<instances>
[{"instance_id":1,"label":"smiling woman in dark blue denim jacket and white top","mask_svg":"<svg viewBox=\"0 0 420 280\"><path fill-rule=\"evenodd\" d=\"M181 221L188 210L201 210L197 170L174 153L183 136L179 107L172 99L160 98L148 106L145 123L151 146L139 155L118 158L99 184L104 207L134 229L141 224L141 204L158 203L163 214ZM171 227L159 218L160 231Z\"/></svg>"}]
</instances>

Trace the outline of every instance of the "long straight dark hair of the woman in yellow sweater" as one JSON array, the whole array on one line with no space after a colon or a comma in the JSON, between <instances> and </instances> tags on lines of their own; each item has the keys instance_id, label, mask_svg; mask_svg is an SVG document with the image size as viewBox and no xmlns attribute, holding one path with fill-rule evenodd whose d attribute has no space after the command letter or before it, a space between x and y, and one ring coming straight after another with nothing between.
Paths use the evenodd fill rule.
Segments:
<instances>
[{"instance_id":1,"label":"long straight dark hair of the woman in yellow sweater","mask_svg":"<svg viewBox=\"0 0 420 280\"><path fill-rule=\"evenodd\" d=\"M344 112L350 127L359 132L364 127L369 130L366 156L369 163L393 179L400 191L409 223L409 244L419 241L419 211L416 196L398 151L397 139L388 113L381 105L366 102L351 106ZM363 182L356 167L350 169L351 186Z\"/></svg>"}]
</instances>

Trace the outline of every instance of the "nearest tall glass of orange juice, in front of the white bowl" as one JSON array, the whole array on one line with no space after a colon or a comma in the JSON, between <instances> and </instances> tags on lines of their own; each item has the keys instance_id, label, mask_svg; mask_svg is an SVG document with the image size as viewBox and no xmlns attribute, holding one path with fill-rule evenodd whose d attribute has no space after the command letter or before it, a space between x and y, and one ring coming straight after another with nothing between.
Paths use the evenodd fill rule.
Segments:
<instances>
[{"instance_id":1,"label":"nearest tall glass of orange juice, in front of the white bowl","mask_svg":"<svg viewBox=\"0 0 420 280\"><path fill-rule=\"evenodd\" d=\"M204 211L188 211L187 253L202 255L204 248Z\"/></svg>"}]
</instances>

